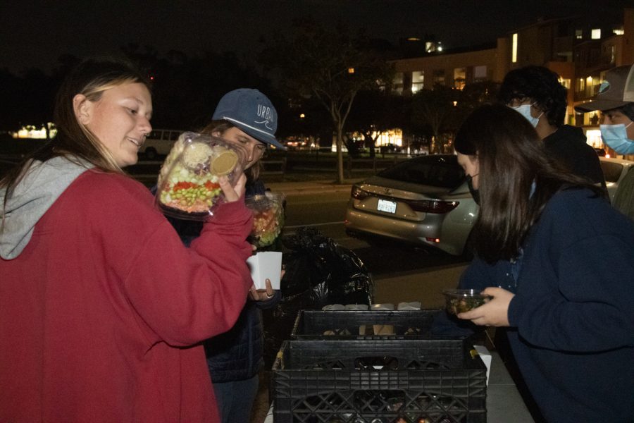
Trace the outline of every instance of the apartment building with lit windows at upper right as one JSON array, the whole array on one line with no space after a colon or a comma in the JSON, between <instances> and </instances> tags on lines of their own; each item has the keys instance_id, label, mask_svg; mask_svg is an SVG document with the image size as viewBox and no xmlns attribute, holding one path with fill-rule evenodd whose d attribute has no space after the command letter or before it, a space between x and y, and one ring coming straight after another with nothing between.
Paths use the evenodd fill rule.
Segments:
<instances>
[{"instance_id":1,"label":"apartment building with lit windows at upper right","mask_svg":"<svg viewBox=\"0 0 634 423\"><path fill-rule=\"evenodd\" d=\"M540 19L488 46L428 51L392 61L397 92L411 95L437 83L461 89L478 80L502 82L511 69L546 66L568 88L566 123L582 126L589 142L600 144L599 116L576 114L573 108L597 93L609 69L634 63L634 8L625 8L618 23L604 22L600 13L592 22L576 16Z\"/></svg>"}]
</instances>

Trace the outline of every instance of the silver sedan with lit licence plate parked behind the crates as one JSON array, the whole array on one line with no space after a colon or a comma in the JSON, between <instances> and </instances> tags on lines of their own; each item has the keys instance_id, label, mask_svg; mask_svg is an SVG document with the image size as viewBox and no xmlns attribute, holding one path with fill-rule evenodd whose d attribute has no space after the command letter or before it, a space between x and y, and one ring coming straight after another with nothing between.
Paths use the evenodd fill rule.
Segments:
<instances>
[{"instance_id":1,"label":"silver sedan with lit licence plate parked behind the crates","mask_svg":"<svg viewBox=\"0 0 634 423\"><path fill-rule=\"evenodd\" d=\"M344 223L359 238L378 236L463 255L478 210L456 156L433 154L354 184Z\"/></svg>"}]
</instances>

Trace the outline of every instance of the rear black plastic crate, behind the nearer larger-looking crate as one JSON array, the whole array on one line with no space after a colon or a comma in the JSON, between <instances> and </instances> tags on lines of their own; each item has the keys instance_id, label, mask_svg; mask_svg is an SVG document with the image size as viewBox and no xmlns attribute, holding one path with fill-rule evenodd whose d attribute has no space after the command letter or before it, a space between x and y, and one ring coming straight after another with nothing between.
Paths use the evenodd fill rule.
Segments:
<instances>
[{"instance_id":1,"label":"rear black plastic crate, behind the nearer larger-looking crate","mask_svg":"<svg viewBox=\"0 0 634 423\"><path fill-rule=\"evenodd\" d=\"M434 315L442 309L321 311L301 310L291 332L294 339L430 338Z\"/></svg>"}]
</instances>

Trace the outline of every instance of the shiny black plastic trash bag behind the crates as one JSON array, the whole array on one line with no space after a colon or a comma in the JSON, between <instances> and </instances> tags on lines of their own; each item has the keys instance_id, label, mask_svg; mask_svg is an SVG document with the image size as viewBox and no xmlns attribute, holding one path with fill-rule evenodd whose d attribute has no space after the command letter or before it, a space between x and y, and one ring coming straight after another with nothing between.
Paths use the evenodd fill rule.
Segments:
<instances>
[{"instance_id":1,"label":"shiny black plastic trash bag behind the crates","mask_svg":"<svg viewBox=\"0 0 634 423\"><path fill-rule=\"evenodd\" d=\"M374 283L368 268L352 251L335 243L316 228L299 228L282 240L289 250L282 264L282 300L263 310L264 361L270 368L282 341L290 338L299 310L321 309L328 304L371 305Z\"/></svg>"}]
</instances>

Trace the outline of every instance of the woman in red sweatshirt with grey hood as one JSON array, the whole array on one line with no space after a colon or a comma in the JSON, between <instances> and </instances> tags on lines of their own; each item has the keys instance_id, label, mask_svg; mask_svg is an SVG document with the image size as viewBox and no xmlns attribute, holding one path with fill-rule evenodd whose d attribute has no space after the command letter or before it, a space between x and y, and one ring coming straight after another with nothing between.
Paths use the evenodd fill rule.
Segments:
<instances>
[{"instance_id":1,"label":"woman in red sweatshirt with grey hood","mask_svg":"<svg viewBox=\"0 0 634 423\"><path fill-rule=\"evenodd\" d=\"M145 78L89 59L63 83L58 135L0 180L0 421L217 422L200 341L252 285L241 174L189 248L135 164Z\"/></svg>"}]
</instances>

